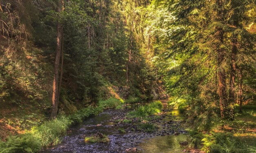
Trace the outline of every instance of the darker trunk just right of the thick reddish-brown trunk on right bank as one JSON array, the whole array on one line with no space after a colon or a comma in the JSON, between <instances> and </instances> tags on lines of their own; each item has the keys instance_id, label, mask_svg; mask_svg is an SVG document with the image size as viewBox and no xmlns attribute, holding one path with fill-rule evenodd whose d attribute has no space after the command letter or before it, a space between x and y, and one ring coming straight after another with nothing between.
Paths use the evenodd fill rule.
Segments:
<instances>
[{"instance_id":1,"label":"darker trunk just right of the thick reddish-brown trunk on right bank","mask_svg":"<svg viewBox=\"0 0 256 153\"><path fill-rule=\"evenodd\" d=\"M235 77L236 77L236 54L237 54L237 40L234 37L232 40L232 52L230 63L230 80L229 80L229 103L233 106L235 104ZM234 119L233 108L231 108L231 118Z\"/></svg>"}]
</instances>

